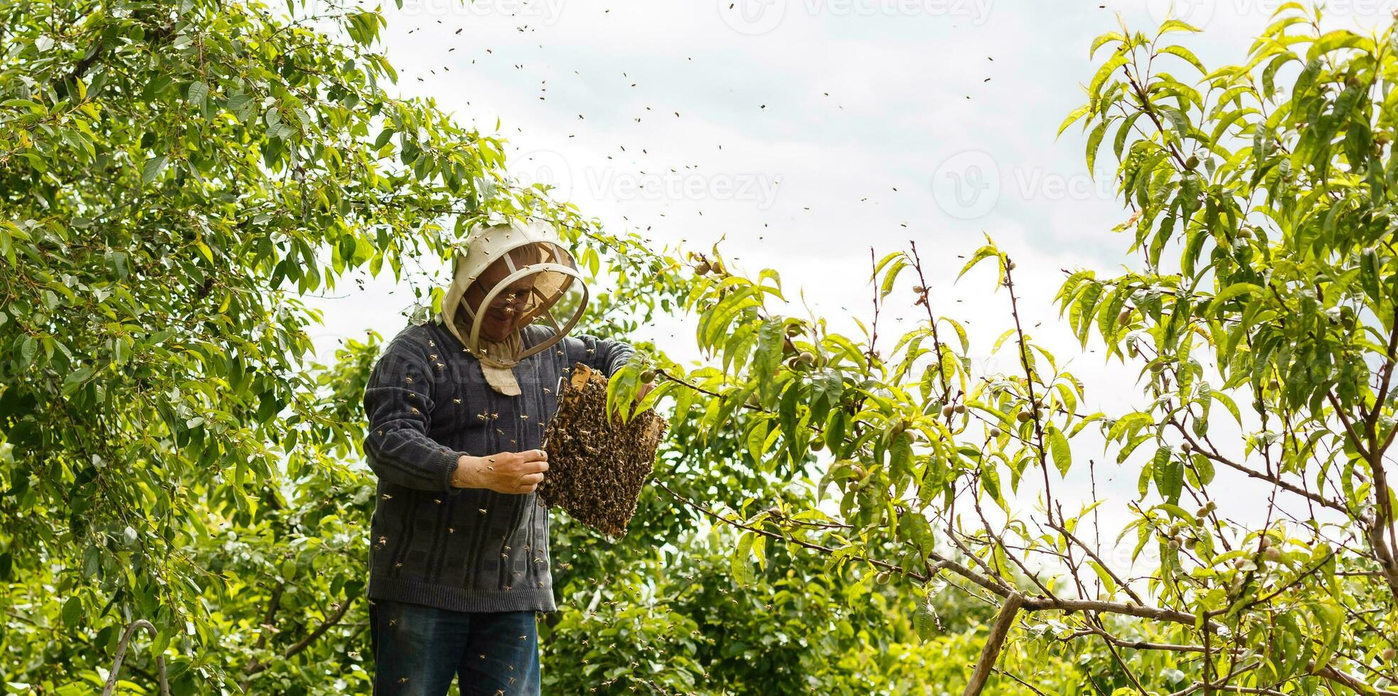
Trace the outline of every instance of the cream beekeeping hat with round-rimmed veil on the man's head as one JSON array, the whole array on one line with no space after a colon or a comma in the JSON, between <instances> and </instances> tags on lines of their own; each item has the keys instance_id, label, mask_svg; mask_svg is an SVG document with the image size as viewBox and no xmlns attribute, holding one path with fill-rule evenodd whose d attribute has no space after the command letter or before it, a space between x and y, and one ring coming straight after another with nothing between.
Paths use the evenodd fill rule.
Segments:
<instances>
[{"instance_id":1,"label":"cream beekeeping hat with round-rimmed veil on the man's head","mask_svg":"<svg viewBox=\"0 0 1398 696\"><path fill-rule=\"evenodd\" d=\"M513 302L514 327L509 335L491 341L481 335L487 312L477 312L468 302L467 291L487 274L496 261L503 263L507 275L489 288L481 287L481 309L495 303ZM527 285L526 291L520 291ZM524 292L524 296L519 296ZM480 295L480 293L478 293ZM561 300L562 305L559 305ZM554 307L566 307L569 316L559 323ZM481 361L487 380L502 394L519 394L512 368L540 351L563 340L582 319L587 306L587 284L577 271L573 254L563 247L552 225L545 222L517 222L475 226L466 238L466 253L457 253L452 287L442 299L442 319L447 330L471 355ZM523 347L520 327L531 323L547 324L552 333L544 340Z\"/></svg>"}]
</instances>

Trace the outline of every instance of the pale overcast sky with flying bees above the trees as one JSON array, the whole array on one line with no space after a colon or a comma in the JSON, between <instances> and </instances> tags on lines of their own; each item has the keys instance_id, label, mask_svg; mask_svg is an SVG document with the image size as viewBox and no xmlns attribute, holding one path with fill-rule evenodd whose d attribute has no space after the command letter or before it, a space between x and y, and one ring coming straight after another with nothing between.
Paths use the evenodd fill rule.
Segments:
<instances>
[{"instance_id":1,"label":"pale overcast sky with flying bees above the trees","mask_svg":"<svg viewBox=\"0 0 1398 696\"><path fill-rule=\"evenodd\" d=\"M1117 29L1118 15L1153 28L1170 4L404 0L396 10L390 0L386 43L404 94L431 95L485 133L499 120L521 177L558 184L584 215L644 231L657 246L703 250L724 238L734 266L781 274L793 300L784 313L805 316L804 291L856 341L858 328L840 317L868 320L870 247L882 256L913 239L932 274L934 310L965 321L983 359L1012 326L1009 299L994 292L988 264L952 280L959 254L988 233L1018 261L1025 327L1086 382L1089 412L1120 414L1145 403L1132 386L1139 366L1106 365L1097 341L1082 351L1051 298L1061 268L1139 264L1124 254L1130 239L1110 232L1127 217L1109 183L1114 162L1104 155L1107 176L1093 180L1083 136L1074 127L1055 141L1054 131L1085 101L1092 38ZM1205 29L1176 36L1205 64L1239 63L1278 4L1176 1L1176 15ZM1381 27L1394 6L1329 3L1328 20ZM1192 77L1183 64L1173 70ZM911 326L921 312L910 285L889 298L885 355L902 333L886 321ZM327 323L317 345L370 327L391 337L411 302L391 274L317 300ZM682 319L635 338L698 358ZM991 368L1012 370L1007 358ZM1100 440L1076 450L1102 461ZM1124 512L1135 475L1099 477ZM1055 492L1064 488L1083 492L1082 481Z\"/></svg>"}]
</instances>

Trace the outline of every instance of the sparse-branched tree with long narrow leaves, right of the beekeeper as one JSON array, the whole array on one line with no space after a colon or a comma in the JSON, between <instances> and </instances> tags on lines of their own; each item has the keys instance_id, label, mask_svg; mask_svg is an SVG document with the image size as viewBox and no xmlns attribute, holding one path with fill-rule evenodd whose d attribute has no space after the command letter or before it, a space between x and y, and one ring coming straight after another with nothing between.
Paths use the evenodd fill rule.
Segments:
<instances>
[{"instance_id":1,"label":"sparse-branched tree with long narrow leaves, right of the beekeeper","mask_svg":"<svg viewBox=\"0 0 1398 696\"><path fill-rule=\"evenodd\" d=\"M973 370L916 243L870 257L857 340L780 314L776 271L691 256L685 306L713 365L637 359L617 407L650 369L646 398L733 430L762 471L814 465L832 495L685 499L738 531L740 581L783 546L900 583L928 636L942 593L994 605L966 693L1037 692L1046 655L1082 665L1082 692L1395 693L1398 32L1323 31L1288 3L1243 64L1211 70L1173 41L1194 31L1097 38L1088 103L1060 129L1083 122L1089 168L1117 162L1114 232L1139 264L1067 271L1055 302L1083 347L1139 368L1130 412L1083 411L1083 384L1021 324L994 243L962 274L990 264L1004 292L1001 373ZM925 321L884 352L879 314L909 284ZM1088 436L1134 499L1097 498ZM1102 506L1130 517L1120 535Z\"/></svg>"}]
</instances>

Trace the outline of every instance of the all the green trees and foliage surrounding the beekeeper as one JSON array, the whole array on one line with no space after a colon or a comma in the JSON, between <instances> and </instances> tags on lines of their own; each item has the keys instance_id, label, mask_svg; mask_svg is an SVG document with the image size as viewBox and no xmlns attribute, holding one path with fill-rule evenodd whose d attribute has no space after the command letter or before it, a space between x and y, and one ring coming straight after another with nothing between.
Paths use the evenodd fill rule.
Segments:
<instances>
[{"instance_id":1,"label":"all the green trees and foliage surrounding the beekeeper","mask_svg":"<svg viewBox=\"0 0 1398 696\"><path fill-rule=\"evenodd\" d=\"M554 525L548 690L1392 693L1392 28L1288 3L1215 70L1177 21L1095 42L1062 127L1116 159L1142 263L1055 299L1141 366L1145 403L1107 415L1019 326L990 239L962 275L994 267L1012 368L973 370L916 246L870 259L877 306L916 274L927 312L885 356L877 313L863 344L783 316L776 270L647 249L510 180L499 137L391 95L377 10L284 14L0 0L4 689L95 692L148 619L133 693L157 655L175 693L369 690L359 401L383 337L316 365L305 298L417 281L473 222L528 217L614 288L583 330L688 312L712 358L637 342L611 379L621 405L656 370L642 405L671 435L624 539ZM417 292L412 320L440 284ZM1260 428L1216 442L1244 407ZM1135 500L1062 505L1088 428ZM1269 486L1264 528L1220 510L1223 471ZM1100 505L1160 562L1104 559Z\"/></svg>"}]
</instances>

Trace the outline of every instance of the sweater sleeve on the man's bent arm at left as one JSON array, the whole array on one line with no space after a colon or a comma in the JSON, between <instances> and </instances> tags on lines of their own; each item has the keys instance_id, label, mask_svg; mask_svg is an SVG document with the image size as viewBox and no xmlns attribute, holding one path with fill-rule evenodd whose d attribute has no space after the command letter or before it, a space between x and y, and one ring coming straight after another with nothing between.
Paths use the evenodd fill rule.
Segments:
<instances>
[{"instance_id":1,"label":"sweater sleeve on the man's bent arm at left","mask_svg":"<svg viewBox=\"0 0 1398 696\"><path fill-rule=\"evenodd\" d=\"M433 393L440 389L422 347L396 338L375 363L363 390L369 468L390 482L419 491L453 492L454 451L428 436Z\"/></svg>"}]
</instances>

